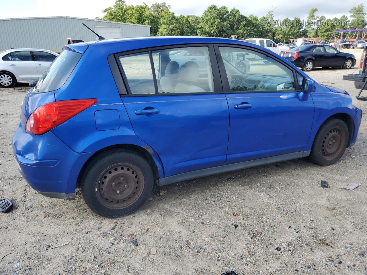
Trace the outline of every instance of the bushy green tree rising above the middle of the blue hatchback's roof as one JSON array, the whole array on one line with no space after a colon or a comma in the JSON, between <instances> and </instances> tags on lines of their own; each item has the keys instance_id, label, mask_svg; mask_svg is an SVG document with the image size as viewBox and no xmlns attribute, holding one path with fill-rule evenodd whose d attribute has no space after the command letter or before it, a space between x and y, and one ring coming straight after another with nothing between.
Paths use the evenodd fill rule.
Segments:
<instances>
[{"instance_id":1,"label":"bushy green tree rising above the middle of the blue hatchback's roof","mask_svg":"<svg viewBox=\"0 0 367 275\"><path fill-rule=\"evenodd\" d=\"M199 28L197 33L199 36L212 37L229 37L228 23L226 17L228 8L222 6L217 8L216 5L209 6L200 18Z\"/></svg>"}]
</instances>

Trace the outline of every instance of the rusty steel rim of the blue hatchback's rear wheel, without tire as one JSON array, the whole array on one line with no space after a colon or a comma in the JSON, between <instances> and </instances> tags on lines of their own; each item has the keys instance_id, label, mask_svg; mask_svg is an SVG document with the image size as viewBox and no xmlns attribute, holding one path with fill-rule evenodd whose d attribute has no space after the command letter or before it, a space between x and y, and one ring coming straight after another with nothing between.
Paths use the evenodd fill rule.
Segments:
<instances>
[{"instance_id":1,"label":"rusty steel rim of the blue hatchback's rear wheel, without tire","mask_svg":"<svg viewBox=\"0 0 367 275\"><path fill-rule=\"evenodd\" d=\"M144 177L141 170L128 163L105 169L95 185L98 201L110 209L123 209L132 205L141 196L143 189Z\"/></svg>"}]
</instances>

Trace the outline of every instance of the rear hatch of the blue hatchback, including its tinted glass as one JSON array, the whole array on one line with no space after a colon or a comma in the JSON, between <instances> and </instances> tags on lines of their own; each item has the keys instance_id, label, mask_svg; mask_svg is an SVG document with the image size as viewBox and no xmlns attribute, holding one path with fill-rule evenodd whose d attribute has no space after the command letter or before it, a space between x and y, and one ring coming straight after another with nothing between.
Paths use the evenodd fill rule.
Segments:
<instances>
[{"instance_id":1,"label":"rear hatch of the blue hatchback, including its tinted glass","mask_svg":"<svg viewBox=\"0 0 367 275\"><path fill-rule=\"evenodd\" d=\"M54 102L54 91L61 88L88 48L86 43L77 43L66 46L51 63L43 76L37 81L25 96L21 109L21 124L23 130L29 115L43 104Z\"/></svg>"}]
</instances>

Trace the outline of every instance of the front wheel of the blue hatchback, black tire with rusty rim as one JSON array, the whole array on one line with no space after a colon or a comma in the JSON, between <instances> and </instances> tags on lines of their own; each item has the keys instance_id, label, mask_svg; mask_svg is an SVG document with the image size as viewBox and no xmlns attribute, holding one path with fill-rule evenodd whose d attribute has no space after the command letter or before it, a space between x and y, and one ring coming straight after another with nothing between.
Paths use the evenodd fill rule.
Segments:
<instances>
[{"instance_id":1,"label":"front wheel of the blue hatchback, black tire with rusty rim","mask_svg":"<svg viewBox=\"0 0 367 275\"><path fill-rule=\"evenodd\" d=\"M348 126L338 118L331 118L317 132L309 159L322 166L332 165L344 154L348 142Z\"/></svg>"}]
</instances>

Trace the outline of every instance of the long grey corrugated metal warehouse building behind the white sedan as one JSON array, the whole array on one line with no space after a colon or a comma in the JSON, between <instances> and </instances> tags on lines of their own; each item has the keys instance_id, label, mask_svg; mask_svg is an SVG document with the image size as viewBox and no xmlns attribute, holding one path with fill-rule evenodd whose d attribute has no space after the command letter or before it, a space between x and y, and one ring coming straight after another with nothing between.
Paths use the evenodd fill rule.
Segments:
<instances>
[{"instance_id":1,"label":"long grey corrugated metal warehouse building behind the white sedan","mask_svg":"<svg viewBox=\"0 0 367 275\"><path fill-rule=\"evenodd\" d=\"M0 51L39 48L59 52L68 44L68 37L72 40L97 40L98 37L82 23L106 39L150 36L148 25L68 16L0 19Z\"/></svg>"}]
</instances>

